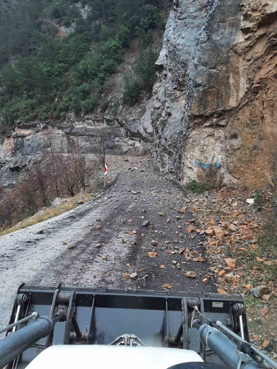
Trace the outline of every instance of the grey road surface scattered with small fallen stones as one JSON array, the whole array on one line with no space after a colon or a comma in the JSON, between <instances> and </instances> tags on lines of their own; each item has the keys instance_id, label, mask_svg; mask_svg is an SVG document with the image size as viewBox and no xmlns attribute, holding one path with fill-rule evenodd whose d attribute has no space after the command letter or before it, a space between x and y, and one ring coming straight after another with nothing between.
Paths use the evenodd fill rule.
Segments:
<instances>
[{"instance_id":1,"label":"grey road surface scattered with small fallen stones","mask_svg":"<svg viewBox=\"0 0 277 369\"><path fill-rule=\"evenodd\" d=\"M0 325L7 323L22 282L152 290L168 283L176 291L215 292L211 280L202 283L208 263L189 262L178 254L188 248L205 259L201 236L189 238L185 231L184 223L193 217L193 204L186 203L185 192L150 168L148 158L113 156L109 175L116 174L117 180L99 199L0 237ZM184 205L187 211L179 214ZM153 228L142 225L147 220ZM37 234L39 230L43 234ZM98 244L105 245L95 247ZM174 249L177 254L170 254ZM149 258L147 252L158 255ZM187 270L196 277L186 277ZM137 277L125 279L125 273Z\"/></svg>"}]
</instances>

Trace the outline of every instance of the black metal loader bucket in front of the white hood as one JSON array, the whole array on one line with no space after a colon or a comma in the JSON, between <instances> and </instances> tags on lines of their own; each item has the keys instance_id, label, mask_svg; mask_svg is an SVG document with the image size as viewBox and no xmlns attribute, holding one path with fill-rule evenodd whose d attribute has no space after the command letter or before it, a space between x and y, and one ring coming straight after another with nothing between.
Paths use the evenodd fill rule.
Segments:
<instances>
[{"instance_id":1,"label":"black metal loader bucket in front of the white hood","mask_svg":"<svg viewBox=\"0 0 277 369\"><path fill-rule=\"evenodd\" d=\"M138 337L138 345L191 349L199 352L204 361L218 363L215 355L206 350L204 344L199 344L198 330L191 327L195 306L205 318L220 321L249 342L245 309L238 310L239 306L244 307L240 295L206 293L199 296L191 292L136 288L22 284L16 294L10 324L33 312L52 316L63 311L65 319L58 321L51 334L24 351L9 368L15 368L15 364L17 369L25 368L51 345L109 345L113 341L117 344L123 334ZM202 323L204 317L201 316ZM32 323L29 320L23 325ZM12 329L7 331L7 335L11 332Z\"/></svg>"}]
</instances>

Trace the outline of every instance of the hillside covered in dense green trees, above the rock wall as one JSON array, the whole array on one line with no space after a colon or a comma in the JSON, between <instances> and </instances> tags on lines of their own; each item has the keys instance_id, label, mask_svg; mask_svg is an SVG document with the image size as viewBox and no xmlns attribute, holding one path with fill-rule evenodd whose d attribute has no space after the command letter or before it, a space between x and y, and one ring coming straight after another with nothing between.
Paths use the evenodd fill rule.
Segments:
<instances>
[{"instance_id":1,"label":"hillside covered in dense green trees, above the rock wall","mask_svg":"<svg viewBox=\"0 0 277 369\"><path fill-rule=\"evenodd\" d=\"M140 41L124 103L154 84L155 29L164 0L1 0L0 125L89 113L101 106L105 81Z\"/></svg>"}]
</instances>

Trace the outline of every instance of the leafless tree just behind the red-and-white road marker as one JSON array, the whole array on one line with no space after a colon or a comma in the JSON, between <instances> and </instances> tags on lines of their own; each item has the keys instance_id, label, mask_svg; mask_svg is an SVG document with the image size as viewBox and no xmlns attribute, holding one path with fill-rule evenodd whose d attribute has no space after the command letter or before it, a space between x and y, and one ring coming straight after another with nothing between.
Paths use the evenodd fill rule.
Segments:
<instances>
[{"instance_id":1,"label":"leafless tree just behind the red-and-white road marker","mask_svg":"<svg viewBox=\"0 0 277 369\"><path fill-rule=\"evenodd\" d=\"M95 135L90 140L93 154L98 156L99 163L105 166L106 152L113 138L115 129L107 125L95 127Z\"/></svg>"}]
</instances>

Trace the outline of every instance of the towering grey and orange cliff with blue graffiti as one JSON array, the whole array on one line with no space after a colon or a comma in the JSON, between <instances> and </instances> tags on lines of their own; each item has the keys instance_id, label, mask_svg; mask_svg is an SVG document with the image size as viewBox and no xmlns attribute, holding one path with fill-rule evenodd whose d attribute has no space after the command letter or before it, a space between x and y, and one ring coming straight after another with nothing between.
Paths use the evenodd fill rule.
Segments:
<instances>
[{"instance_id":1,"label":"towering grey and orange cliff with blue graffiti","mask_svg":"<svg viewBox=\"0 0 277 369\"><path fill-rule=\"evenodd\" d=\"M150 110L161 170L183 183L271 182L276 45L276 0L174 1Z\"/></svg>"}]
</instances>

